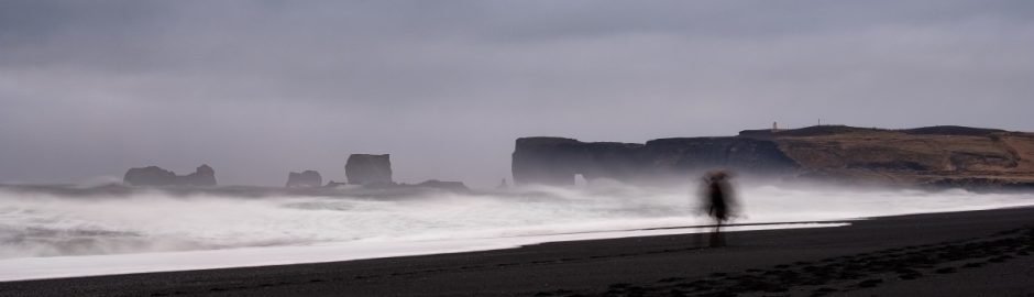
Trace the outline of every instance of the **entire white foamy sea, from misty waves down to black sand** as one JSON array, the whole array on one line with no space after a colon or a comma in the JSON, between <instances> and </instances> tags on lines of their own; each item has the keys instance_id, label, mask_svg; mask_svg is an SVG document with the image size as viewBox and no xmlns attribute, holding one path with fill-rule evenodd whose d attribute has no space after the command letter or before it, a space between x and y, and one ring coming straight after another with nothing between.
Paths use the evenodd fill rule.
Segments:
<instances>
[{"instance_id":1,"label":"entire white foamy sea, from misty waves down to black sand","mask_svg":"<svg viewBox=\"0 0 1034 297\"><path fill-rule=\"evenodd\" d=\"M685 233L692 190L614 184L356 197L65 197L0 191L0 279L251 266ZM738 222L827 221L1034 205L1030 194L743 187ZM774 226L799 228L820 226ZM747 227L759 228L759 227Z\"/></svg>"}]
</instances>

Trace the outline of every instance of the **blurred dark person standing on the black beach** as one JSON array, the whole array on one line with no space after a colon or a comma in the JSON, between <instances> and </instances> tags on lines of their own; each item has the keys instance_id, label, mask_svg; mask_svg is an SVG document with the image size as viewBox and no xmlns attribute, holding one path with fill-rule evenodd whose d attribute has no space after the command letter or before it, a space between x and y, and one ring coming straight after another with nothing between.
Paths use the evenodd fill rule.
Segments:
<instances>
[{"instance_id":1,"label":"blurred dark person standing on the black beach","mask_svg":"<svg viewBox=\"0 0 1034 297\"><path fill-rule=\"evenodd\" d=\"M722 234L722 224L735 217L738 204L733 196L729 185L729 174L717 170L704 176L704 189L701 197L701 210L707 212L715 220L714 231L711 233L711 246L724 246L725 235Z\"/></svg>"}]
</instances>

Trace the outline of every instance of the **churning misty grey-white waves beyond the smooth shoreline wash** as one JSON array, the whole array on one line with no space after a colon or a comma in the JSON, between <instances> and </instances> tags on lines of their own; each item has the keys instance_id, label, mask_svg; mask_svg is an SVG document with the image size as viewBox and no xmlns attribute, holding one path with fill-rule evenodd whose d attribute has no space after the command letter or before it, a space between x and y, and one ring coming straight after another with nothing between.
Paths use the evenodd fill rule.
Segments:
<instances>
[{"instance_id":1,"label":"churning misty grey-white waves beyond the smooth shoreline wash","mask_svg":"<svg viewBox=\"0 0 1034 297\"><path fill-rule=\"evenodd\" d=\"M133 191L81 197L0 191L0 258L321 243L494 239L707 223L690 187L600 184L405 199ZM738 222L821 221L1034 205L1028 194L739 189Z\"/></svg>"}]
</instances>

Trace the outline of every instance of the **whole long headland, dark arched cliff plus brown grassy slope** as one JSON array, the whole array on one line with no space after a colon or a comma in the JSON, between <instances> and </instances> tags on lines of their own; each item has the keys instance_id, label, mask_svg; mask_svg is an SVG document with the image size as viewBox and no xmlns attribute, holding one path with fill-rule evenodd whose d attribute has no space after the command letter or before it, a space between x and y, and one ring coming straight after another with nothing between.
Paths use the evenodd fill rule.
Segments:
<instances>
[{"instance_id":1,"label":"whole long headland, dark arched cliff plus brown grassy slope","mask_svg":"<svg viewBox=\"0 0 1034 297\"><path fill-rule=\"evenodd\" d=\"M908 130L821 125L645 144L518 139L516 184L684 178L725 168L748 175L965 188L1034 188L1034 133L967 127Z\"/></svg>"}]
</instances>

